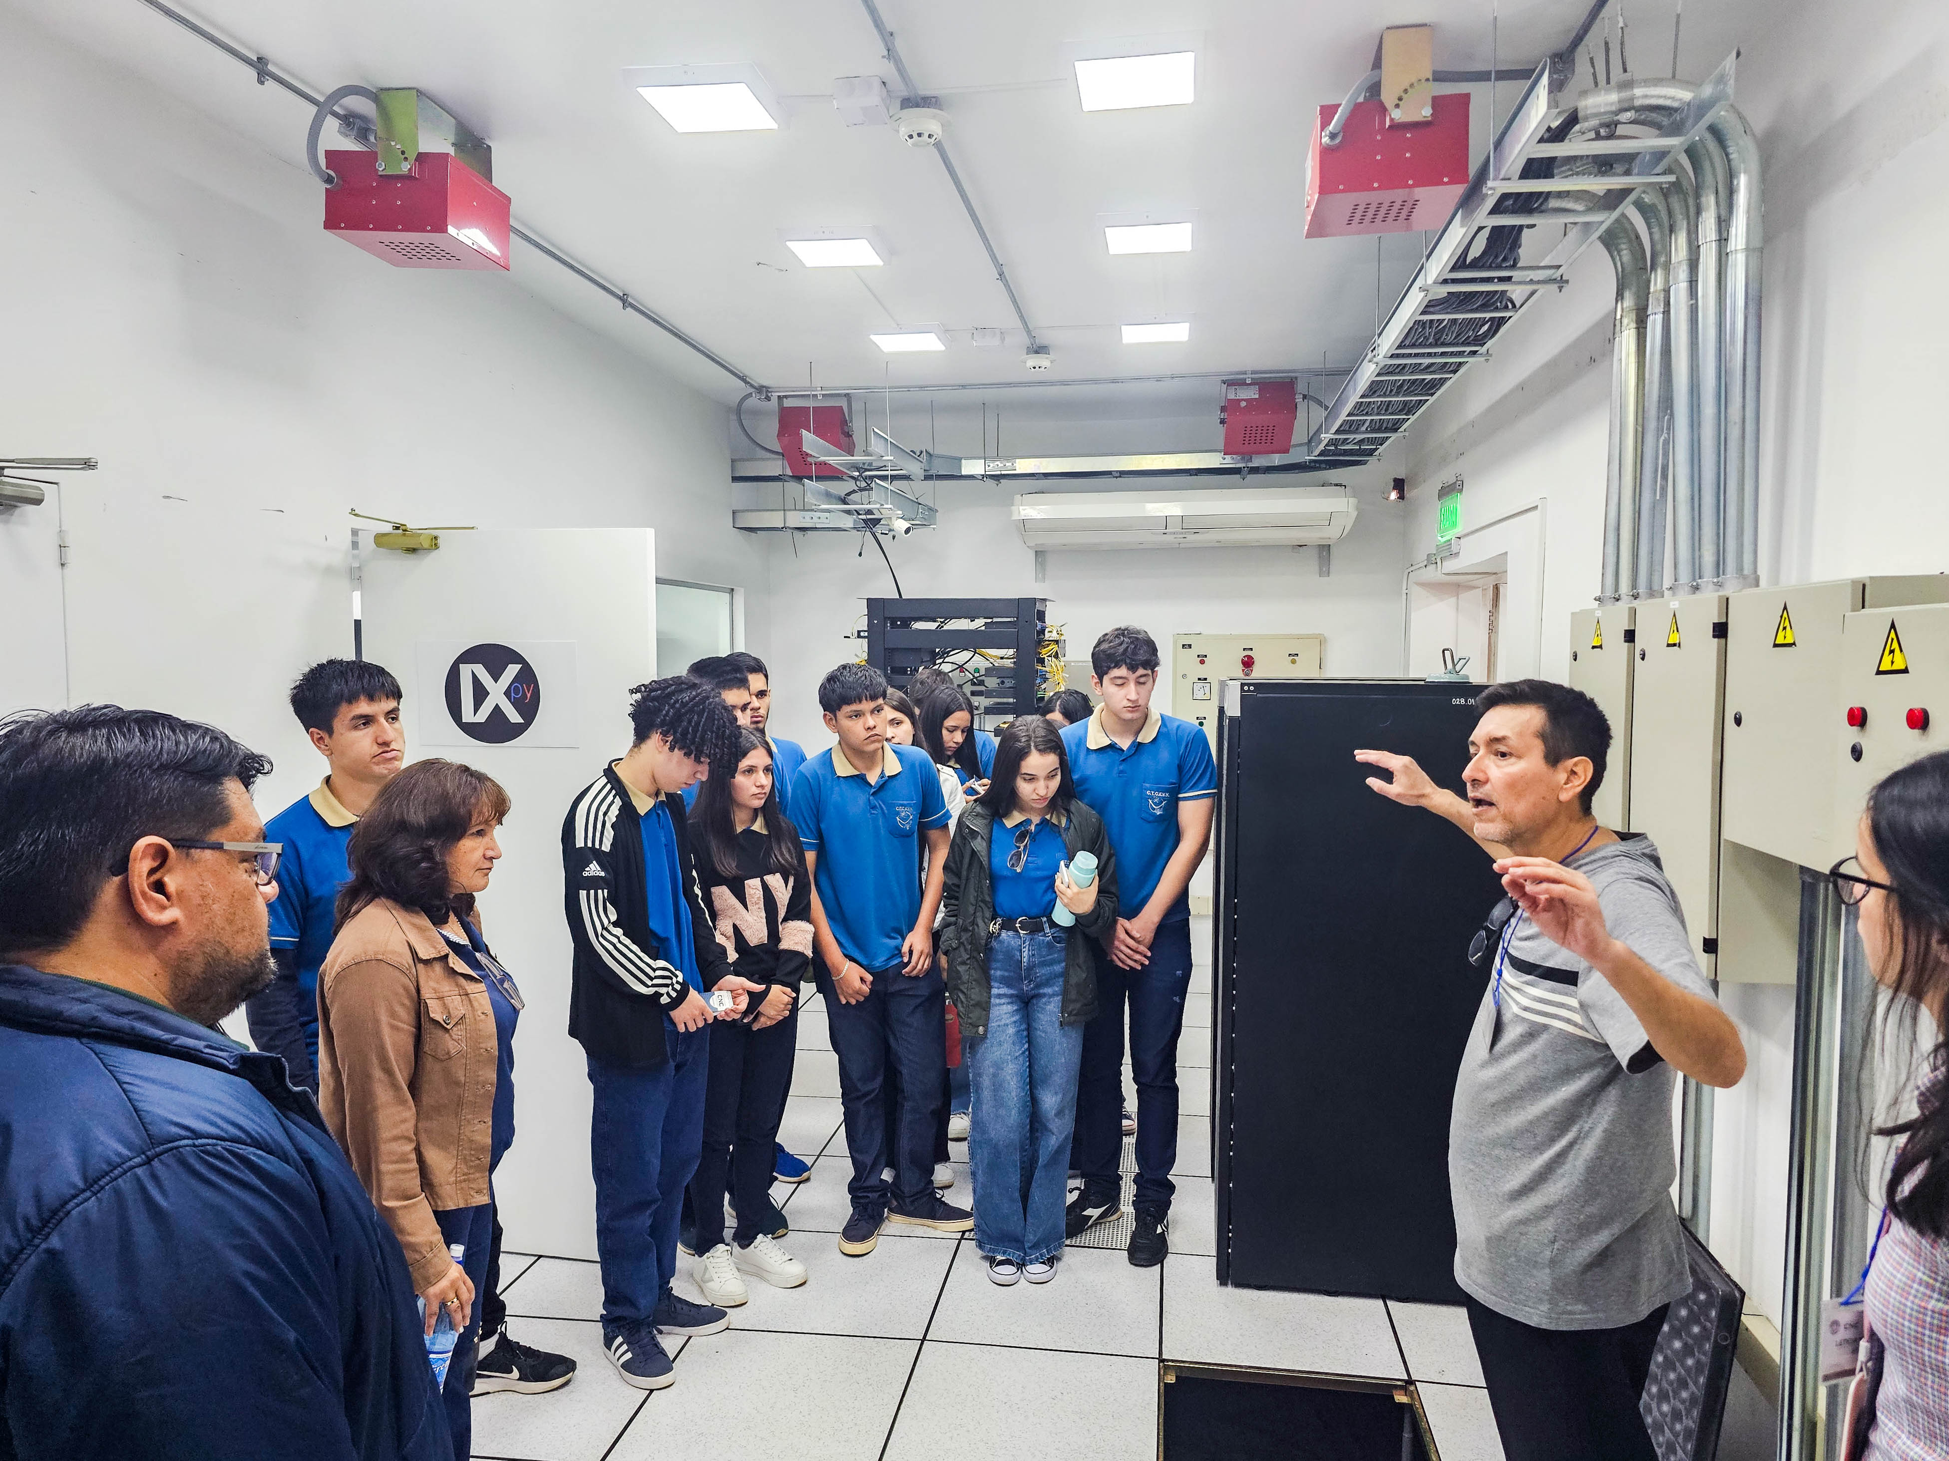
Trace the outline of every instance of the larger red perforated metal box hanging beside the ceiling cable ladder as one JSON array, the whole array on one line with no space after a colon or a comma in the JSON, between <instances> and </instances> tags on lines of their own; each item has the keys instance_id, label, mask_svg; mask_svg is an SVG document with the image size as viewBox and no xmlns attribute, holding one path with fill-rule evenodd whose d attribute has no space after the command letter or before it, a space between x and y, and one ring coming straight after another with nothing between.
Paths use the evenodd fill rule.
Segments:
<instances>
[{"instance_id":1,"label":"larger red perforated metal box hanging beside the ceiling cable ladder","mask_svg":"<svg viewBox=\"0 0 1949 1461\"><path fill-rule=\"evenodd\" d=\"M1434 119L1388 127L1384 101L1347 115L1341 144L1321 142L1339 105L1319 107L1306 175L1306 238L1440 228L1468 187L1468 92L1434 97Z\"/></svg>"}]
</instances>

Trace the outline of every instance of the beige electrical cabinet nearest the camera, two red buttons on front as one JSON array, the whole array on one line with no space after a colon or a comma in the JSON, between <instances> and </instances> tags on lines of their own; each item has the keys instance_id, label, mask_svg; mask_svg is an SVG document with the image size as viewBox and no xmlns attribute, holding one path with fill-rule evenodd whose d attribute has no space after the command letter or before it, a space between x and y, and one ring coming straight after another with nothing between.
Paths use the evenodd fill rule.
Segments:
<instances>
[{"instance_id":1,"label":"beige electrical cabinet nearest the camera, two red buttons on front","mask_svg":"<svg viewBox=\"0 0 1949 1461\"><path fill-rule=\"evenodd\" d=\"M1840 699L1815 711L1838 727L1828 861L1853 851L1855 822L1881 777L1949 750L1949 604L1850 614L1840 653Z\"/></svg>"}]
</instances>

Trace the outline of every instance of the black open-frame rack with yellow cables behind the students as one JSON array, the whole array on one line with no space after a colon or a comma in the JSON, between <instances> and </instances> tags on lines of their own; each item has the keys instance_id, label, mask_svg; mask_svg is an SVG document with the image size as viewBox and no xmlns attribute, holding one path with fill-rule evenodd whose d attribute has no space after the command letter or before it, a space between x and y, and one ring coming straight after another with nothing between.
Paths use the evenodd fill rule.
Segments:
<instances>
[{"instance_id":1,"label":"black open-frame rack with yellow cables behind the students","mask_svg":"<svg viewBox=\"0 0 1949 1461\"><path fill-rule=\"evenodd\" d=\"M939 664L969 692L980 725L1035 715L1047 612L1041 598L869 598L865 662L895 690Z\"/></svg>"}]
</instances>

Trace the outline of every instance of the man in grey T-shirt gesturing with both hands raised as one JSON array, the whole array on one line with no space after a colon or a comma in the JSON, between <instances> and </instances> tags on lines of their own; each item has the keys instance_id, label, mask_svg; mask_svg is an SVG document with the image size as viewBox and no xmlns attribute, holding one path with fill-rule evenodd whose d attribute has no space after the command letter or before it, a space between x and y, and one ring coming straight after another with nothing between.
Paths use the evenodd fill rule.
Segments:
<instances>
[{"instance_id":1,"label":"man in grey T-shirt gesturing with both hands raised","mask_svg":"<svg viewBox=\"0 0 1949 1461\"><path fill-rule=\"evenodd\" d=\"M1672 1075L1735 1085L1739 1030L1692 956L1641 834L1590 816L1610 723L1548 680L1489 686L1468 797L1407 756L1355 752L1390 801L1454 822L1509 894L1475 937L1487 968L1456 1075L1448 1182L1509 1461L1653 1461L1639 1414L1672 1299L1690 1290L1672 1208Z\"/></svg>"}]
</instances>

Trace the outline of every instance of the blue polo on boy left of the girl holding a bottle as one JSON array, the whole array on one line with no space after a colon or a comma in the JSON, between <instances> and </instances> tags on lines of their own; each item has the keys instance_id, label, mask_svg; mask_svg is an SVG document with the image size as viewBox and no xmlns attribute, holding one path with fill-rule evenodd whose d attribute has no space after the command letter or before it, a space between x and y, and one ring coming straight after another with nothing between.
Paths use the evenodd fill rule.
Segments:
<instances>
[{"instance_id":1,"label":"blue polo on boy left of the girl holding a bottle","mask_svg":"<svg viewBox=\"0 0 1949 1461\"><path fill-rule=\"evenodd\" d=\"M821 752L791 787L791 824L819 855L813 882L840 953L869 974L895 968L920 918L922 834L947 826L934 760L889 742L867 779L838 746Z\"/></svg>"}]
</instances>

